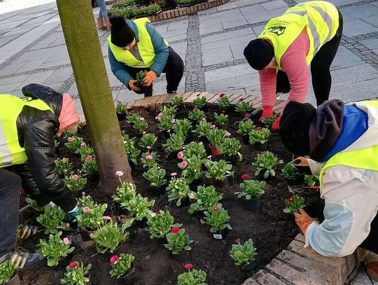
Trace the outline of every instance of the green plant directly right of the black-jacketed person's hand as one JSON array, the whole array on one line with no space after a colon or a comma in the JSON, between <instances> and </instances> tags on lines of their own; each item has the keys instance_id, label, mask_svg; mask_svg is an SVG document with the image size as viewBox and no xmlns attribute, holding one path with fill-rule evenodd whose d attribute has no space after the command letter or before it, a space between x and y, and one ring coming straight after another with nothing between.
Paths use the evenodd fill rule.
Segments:
<instances>
[{"instance_id":1,"label":"green plant directly right of the black-jacketed person's hand","mask_svg":"<svg viewBox=\"0 0 378 285\"><path fill-rule=\"evenodd\" d=\"M84 206L79 209L76 221L80 226L89 230L97 230L104 223L104 213L108 204L94 204L92 207Z\"/></svg>"}]
</instances>

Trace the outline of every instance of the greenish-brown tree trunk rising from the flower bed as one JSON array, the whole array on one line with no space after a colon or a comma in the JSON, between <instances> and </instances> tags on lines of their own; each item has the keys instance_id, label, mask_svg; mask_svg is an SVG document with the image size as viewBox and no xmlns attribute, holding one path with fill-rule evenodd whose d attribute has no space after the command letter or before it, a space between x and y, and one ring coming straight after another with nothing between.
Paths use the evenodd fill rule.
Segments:
<instances>
[{"instance_id":1,"label":"greenish-brown tree trunk rising from the flower bed","mask_svg":"<svg viewBox=\"0 0 378 285\"><path fill-rule=\"evenodd\" d=\"M132 176L90 0L57 0L57 8L99 167L99 186L112 194L119 184L116 171L128 182Z\"/></svg>"}]
</instances>

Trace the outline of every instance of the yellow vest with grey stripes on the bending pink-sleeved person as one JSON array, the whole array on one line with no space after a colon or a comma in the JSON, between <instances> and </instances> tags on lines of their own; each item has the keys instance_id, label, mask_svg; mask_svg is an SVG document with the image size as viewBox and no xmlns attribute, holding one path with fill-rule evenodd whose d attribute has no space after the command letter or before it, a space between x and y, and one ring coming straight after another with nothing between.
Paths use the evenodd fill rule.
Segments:
<instances>
[{"instance_id":1,"label":"yellow vest with grey stripes on the bending pink-sleeved person","mask_svg":"<svg viewBox=\"0 0 378 285\"><path fill-rule=\"evenodd\" d=\"M283 15L269 20L260 39L269 40L274 48L276 69L281 69L281 57L306 27L309 36L307 65L324 43L330 41L339 27L337 8L325 1L309 1L286 10Z\"/></svg>"}]
</instances>

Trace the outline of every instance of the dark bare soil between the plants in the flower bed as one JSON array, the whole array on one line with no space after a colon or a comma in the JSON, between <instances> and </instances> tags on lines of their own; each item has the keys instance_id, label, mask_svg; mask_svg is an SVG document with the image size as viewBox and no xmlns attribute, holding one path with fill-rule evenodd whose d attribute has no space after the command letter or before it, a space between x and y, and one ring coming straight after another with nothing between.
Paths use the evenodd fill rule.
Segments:
<instances>
[{"instance_id":1,"label":"dark bare soil between the plants in the flower bed","mask_svg":"<svg viewBox=\"0 0 378 285\"><path fill-rule=\"evenodd\" d=\"M211 107L207 111L209 121L213 120L214 112L216 111L219 111L216 107ZM184 109L179 111L177 118L184 118L187 112L188 110ZM161 165L167 170L167 176L171 172L179 172L177 167L179 160L165 159L161 143L164 143L166 139L155 125L156 113L147 110L141 113L150 123L148 131L158 135L158 145L154 146L153 151L157 151L160 154L162 158ZM237 139L241 140L234 123L241 120L242 116L235 113L235 111L228 111L228 115L229 124L227 130L232 133L232 136L235 135ZM125 120L120 121L120 127L125 134L130 134L132 137L137 136L137 133L134 132ZM90 144L90 137L86 128L80 130L78 135L83 137L87 144ZM208 153L210 153L209 147L206 147ZM269 138L268 150L276 153L284 162L293 160L293 156L281 144L278 134L272 134ZM64 141L59 144L58 151L60 158L70 158L75 166L79 168L80 159L73 153L67 152L66 148L64 148ZM65 258L57 267L51 268L46 266L21 273L22 284L59 284L66 265L73 260L83 261L85 264L92 263L92 270L90 271L91 284L176 284L177 276L185 271L183 265L187 262L193 263L196 269L202 269L207 272L207 283L209 285L242 284L254 272L267 265L272 258L291 242L299 231L295 225L293 216L284 214L282 211L284 208L283 200L291 195L288 192L285 179L281 173L283 165L277 167L275 178L267 180L265 194L262 195L261 207L258 211L248 211L244 205L244 201L237 199L237 195L234 193L239 190L241 174L248 174L250 179L254 179L255 169L251 165L251 162L255 158L257 151L252 146L243 145L241 153L246 162L234 165L232 170L235 171L235 178L230 179L228 186L217 189L219 193L223 193L223 200L221 202L231 216L230 224L232 225L232 230L228 232L225 240L214 239L208 225L202 225L199 218L188 214L188 207L176 207L176 204L169 203L165 194L156 199L154 210L169 209L175 218L175 222L182 223L190 239L193 239L192 250L186 262L176 261L169 256L169 250L163 246L166 243L165 239L150 239L148 228L137 228L137 225L133 225L130 240L122 244L115 252L116 254L132 253L135 256L135 272L131 278L128 277L128 279L121 281L111 278L109 275L111 267L109 259L113 254L97 254L95 247L92 246ZM132 176L137 185L137 191L151 198L149 183L141 176L143 172L144 170L141 165L138 165L134 167ZM85 193L92 195L97 202L108 203L109 207L106 214L113 216L118 221L122 221L126 217L125 210L120 209L118 204L114 203L111 198L99 193L97 191L97 183L97 180L89 179ZM204 183L209 184L210 181L204 179ZM314 190L307 190L302 193L302 196L306 199L309 214L321 218L323 206L318 193ZM31 214L25 218L28 218L31 223L36 223L35 217L36 214ZM66 232L66 234L69 234L69 232ZM34 251L36 250L35 244L38 243L40 238L47 238L47 236L39 235L38 237L33 237L33 239L29 239L21 246ZM233 263L229 251L235 240L241 239L241 242L244 242L248 238L252 238L257 247L258 267L253 272L245 273L241 272L240 268Z\"/></svg>"}]
</instances>

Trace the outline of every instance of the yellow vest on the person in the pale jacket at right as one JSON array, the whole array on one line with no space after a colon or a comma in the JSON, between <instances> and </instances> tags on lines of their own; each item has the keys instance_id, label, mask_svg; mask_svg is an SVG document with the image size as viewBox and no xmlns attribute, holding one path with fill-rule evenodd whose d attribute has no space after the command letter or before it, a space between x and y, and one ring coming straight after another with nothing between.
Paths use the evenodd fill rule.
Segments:
<instances>
[{"instance_id":1,"label":"yellow vest on the person in the pale jacket at right","mask_svg":"<svg viewBox=\"0 0 378 285\"><path fill-rule=\"evenodd\" d=\"M367 106L372 106L378 109L378 101L363 101L358 102L360 104L365 104ZM377 137L373 137L370 139L378 139ZM358 141L358 140L357 140ZM378 141L377 141L378 144ZM369 169L378 171L378 145L372 146L369 148L362 148L356 151L344 151L341 153L337 153L336 155L333 155L332 158L330 158L327 162L325 162L325 165L323 165L323 168L321 169L321 173L319 176L319 180L322 186L323 183L323 175L325 174L325 171L332 166L335 165L345 165L353 168L359 168L359 169Z\"/></svg>"}]
</instances>

